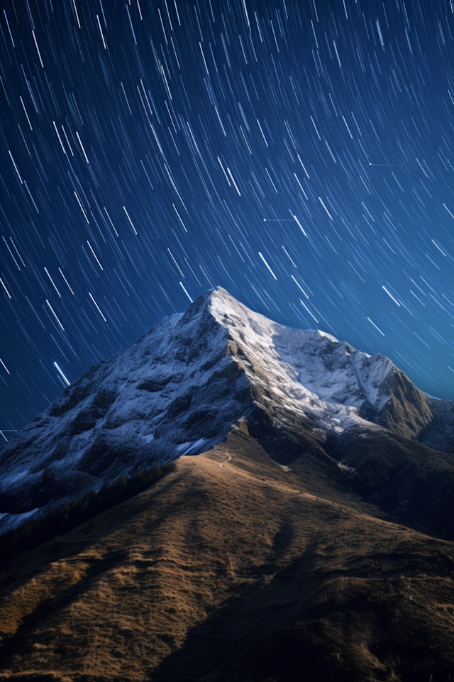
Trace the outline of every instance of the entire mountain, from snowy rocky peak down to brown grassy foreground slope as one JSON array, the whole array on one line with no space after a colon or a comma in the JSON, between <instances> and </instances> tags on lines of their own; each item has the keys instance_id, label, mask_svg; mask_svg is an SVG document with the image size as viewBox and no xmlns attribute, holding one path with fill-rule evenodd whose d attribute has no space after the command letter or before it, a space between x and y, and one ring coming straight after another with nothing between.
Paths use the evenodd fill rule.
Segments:
<instances>
[{"instance_id":1,"label":"entire mountain, from snowy rocky peak down to brown grassy foreground slope","mask_svg":"<svg viewBox=\"0 0 454 682\"><path fill-rule=\"evenodd\" d=\"M1 564L0 680L454 679L453 402L380 354L218 288L0 458L4 538L173 462Z\"/></svg>"}]
</instances>

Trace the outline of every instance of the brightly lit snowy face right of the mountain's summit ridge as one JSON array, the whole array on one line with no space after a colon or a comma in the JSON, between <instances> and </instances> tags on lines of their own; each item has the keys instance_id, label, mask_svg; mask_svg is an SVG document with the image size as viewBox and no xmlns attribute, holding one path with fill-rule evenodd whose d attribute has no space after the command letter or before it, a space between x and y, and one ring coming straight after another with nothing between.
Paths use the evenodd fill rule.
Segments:
<instances>
[{"instance_id":1,"label":"brightly lit snowy face right of the mountain's summit ridge","mask_svg":"<svg viewBox=\"0 0 454 682\"><path fill-rule=\"evenodd\" d=\"M371 357L324 331L277 324L223 290L211 296L210 309L228 328L250 383L264 389L265 405L287 405L326 431L373 429L375 422L411 436L430 420L423 393L380 353ZM396 396L407 393L411 405L396 424Z\"/></svg>"}]
</instances>

